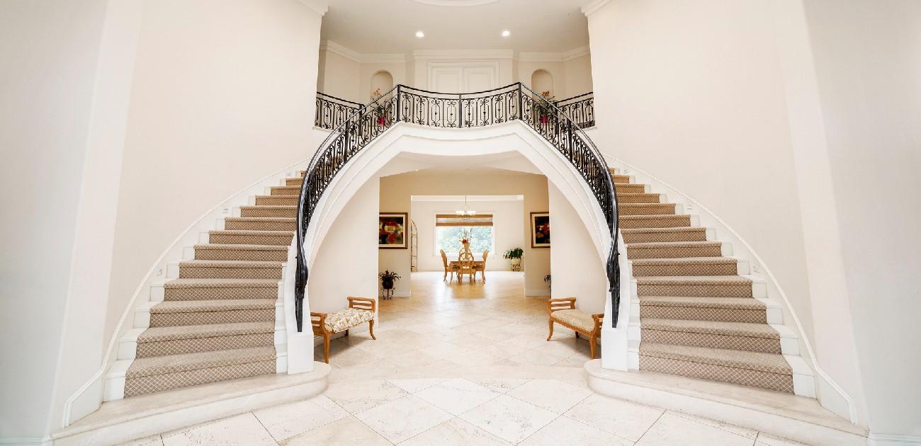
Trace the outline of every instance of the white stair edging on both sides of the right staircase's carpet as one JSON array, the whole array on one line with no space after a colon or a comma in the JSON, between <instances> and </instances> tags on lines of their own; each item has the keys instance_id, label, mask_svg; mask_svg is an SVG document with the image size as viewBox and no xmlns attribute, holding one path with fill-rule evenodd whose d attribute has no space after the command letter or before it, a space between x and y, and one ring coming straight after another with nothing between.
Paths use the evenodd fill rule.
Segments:
<instances>
[{"instance_id":1,"label":"white stair edging on both sides of the right staircase's carpet","mask_svg":"<svg viewBox=\"0 0 921 446\"><path fill-rule=\"evenodd\" d=\"M802 324L799 321L798 315L793 310L786 292L784 292L774 274L764 263L764 260L754 251L752 246L749 245L738 232L732 229L728 223L723 221L714 212L707 209L698 200L694 200L694 198L636 166L609 154L604 154L604 156L608 165L618 168L620 173L634 176L637 182L650 185L653 190L647 190L647 192L658 192L668 195L670 202L680 204L684 213L691 215L692 225L705 226L707 228L707 240L719 240L724 242L724 245L731 246L731 251L725 253L726 255L731 254L735 257L745 257L749 259L749 268L751 272L748 277L754 280L763 281L766 288L765 298L758 299L768 304L769 312L771 308L775 309L775 318L769 321L769 325L773 326L783 337L783 354L794 370L794 389L796 395L815 398L817 397L817 387L831 389L834 393L825 392L819 398L822 406L832 410L841 417L850 419L851 422L856 422L857 406L854 400L818 366L809 338L804 335ZM632 274L630 276L625 275L624 277L632 278ZM631 279L629 283L630 285L628 288L631 291L631 314L634 314L635 317L630 320L628 360L630 363L630 370L636 370L639 362L638 347L640 341L639 303L635 300L636 281ZM786 324L786 318L781 315L781 312L786 314L789 319L792 319L792 326ZM777 320L778 317L780 320ZM805 355L802 354L803 350L806 352Z\"/></svg>"}]
</instances>

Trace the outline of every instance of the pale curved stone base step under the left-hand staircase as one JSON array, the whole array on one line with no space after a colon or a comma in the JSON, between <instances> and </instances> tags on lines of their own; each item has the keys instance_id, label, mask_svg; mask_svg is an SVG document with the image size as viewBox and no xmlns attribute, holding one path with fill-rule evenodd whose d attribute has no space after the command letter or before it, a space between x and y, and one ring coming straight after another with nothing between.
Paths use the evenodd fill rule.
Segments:
<instances>
[{"instance_id":1,"label":"pale curved stone base step under the left-hand staircase","mask_svg":"<svg viewBox=\"0 0 921 446\"><path fill-rule=\"evenodd\" d=\"M110 401L54 432L52 440L55 446L116 444L304 400L326 390L330 371L329 364L314 362L309 373L264 374Z\"/></svg>"}]
</instances>

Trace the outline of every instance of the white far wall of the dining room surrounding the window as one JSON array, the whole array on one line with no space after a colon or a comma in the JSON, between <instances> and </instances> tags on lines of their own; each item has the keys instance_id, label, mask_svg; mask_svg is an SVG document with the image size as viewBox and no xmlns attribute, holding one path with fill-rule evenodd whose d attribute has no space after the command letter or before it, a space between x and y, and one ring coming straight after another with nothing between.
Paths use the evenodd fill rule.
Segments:
<instances>
[{"instance_id":1,"label":"white far wall of the dining room surrounding the window","mask_svg":"<svg viewBox=\"0 0 921 446\"><path fill-rule=\"evenodd\" d=\"M525 239L522 231L524 218L524 200L468 200L467 205L477 213L493 214L493 250L486 259L486 270L507 271L511 260L502 257L508 249L524 248ZM412 201L413 221L419 230L419 270L442 271L441 254L435 246L435 215L437 213L454 213L463 206L463 201ZM456 259L457 253L446 253L449 259Z\"/></svg>"}]
</instances>

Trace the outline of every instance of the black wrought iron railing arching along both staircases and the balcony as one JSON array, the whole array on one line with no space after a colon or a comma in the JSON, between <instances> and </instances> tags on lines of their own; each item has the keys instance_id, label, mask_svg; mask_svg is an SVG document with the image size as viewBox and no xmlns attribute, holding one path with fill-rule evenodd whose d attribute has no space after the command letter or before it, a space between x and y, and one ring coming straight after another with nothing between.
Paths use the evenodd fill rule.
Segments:
<instances>
[{"instance_id":1,"label":"black wrought iron railing arching along both staircases and the balcony","mask_svg":"<svg viewBox=\"0 0 921 446\"><path fill-rule=\"evenodd\" d=\"M462 129L511 120L521 120L553 144L576 167L598 200L612 239L606 271L612 293L612 326L616 327L621 287L617 195L608 166L598 147L576 120L553 102L518 83L460 95L395 86L366 106L356 109L332 129L310 159L297 200L297 331L303 329L303 300L309 279L304 237L323 192L353 156L397 122Z\"/></svg>"}]
</instances>

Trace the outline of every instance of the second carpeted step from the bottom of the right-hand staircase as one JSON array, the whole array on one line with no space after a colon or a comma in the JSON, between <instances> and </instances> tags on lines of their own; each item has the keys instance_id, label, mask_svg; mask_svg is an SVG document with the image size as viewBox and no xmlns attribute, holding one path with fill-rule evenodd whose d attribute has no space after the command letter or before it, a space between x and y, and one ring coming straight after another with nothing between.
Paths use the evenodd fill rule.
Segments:
<instances>
[{"instance_id":1,"label":"second carpeted step from the bottom of the right-hand staircase","mask_svg":"<svg viewBox=\"0 0 921 446\"><path fill-rule=\"evenodd\" d=\"M766 324L642 319L643 342L780 354L780 335Z\"/></svg>"}]
</instances>

